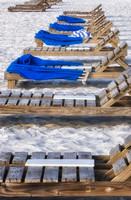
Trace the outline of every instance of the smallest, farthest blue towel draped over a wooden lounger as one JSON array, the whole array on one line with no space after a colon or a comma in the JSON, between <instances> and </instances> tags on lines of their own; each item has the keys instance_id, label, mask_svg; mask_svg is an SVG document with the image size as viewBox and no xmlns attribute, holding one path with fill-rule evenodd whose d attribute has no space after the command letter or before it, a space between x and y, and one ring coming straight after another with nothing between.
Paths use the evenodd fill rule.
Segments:
<instances>
[{"instance_id":1,"label":"smallest, farthest blue towel draped over a wooden lounger","mask_svg":"<svg viewBox=\"0 0 131 200\"><path fill-rule=\"evenodd\" d=\"M57 19L59 21L64 21L64 22L67 22L67 23L85 23L86 22L84 19L64 16L64 15L60 15L59 17L57 17Z\"/></svg>"}]
</instances>

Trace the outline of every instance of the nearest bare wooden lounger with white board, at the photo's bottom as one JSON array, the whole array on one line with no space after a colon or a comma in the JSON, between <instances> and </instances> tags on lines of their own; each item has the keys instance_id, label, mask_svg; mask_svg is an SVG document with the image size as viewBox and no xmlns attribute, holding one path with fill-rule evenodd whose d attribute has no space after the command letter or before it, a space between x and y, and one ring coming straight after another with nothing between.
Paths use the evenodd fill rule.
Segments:
<instances>
[{"instance_id":1,"label":"nearest bare wooden lounger with white board, at the photo's bottom","mask_svg":"<svg viewBox=\"0 0 131 200\"><path fill-rule=\"evenodd\" d=\"M131 135L126 139L127 153L113 166L109 155L91 152L0 152L1 197L131 196Z\"/></svg>"}]
</instances>

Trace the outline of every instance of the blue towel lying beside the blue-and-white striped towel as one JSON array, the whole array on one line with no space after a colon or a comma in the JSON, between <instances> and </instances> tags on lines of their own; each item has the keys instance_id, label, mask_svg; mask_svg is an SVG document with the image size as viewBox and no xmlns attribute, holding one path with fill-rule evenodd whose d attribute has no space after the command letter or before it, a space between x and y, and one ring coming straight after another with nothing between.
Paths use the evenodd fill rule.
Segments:
<instances>
[{"instance_id":1,"label":"blue towel lying beside the blue-and-white striped towel","mask_svg":"<svg viewBox=\"0 0 131 200\"><path fill-rule=\"evenodd\" d=\"M35 34L35 38L41 39L47 45L71 45L71 44L81 44L81 37L69 37L68 35L52 34L48 31L40 30Z\"/></svg>"}]
</instances>

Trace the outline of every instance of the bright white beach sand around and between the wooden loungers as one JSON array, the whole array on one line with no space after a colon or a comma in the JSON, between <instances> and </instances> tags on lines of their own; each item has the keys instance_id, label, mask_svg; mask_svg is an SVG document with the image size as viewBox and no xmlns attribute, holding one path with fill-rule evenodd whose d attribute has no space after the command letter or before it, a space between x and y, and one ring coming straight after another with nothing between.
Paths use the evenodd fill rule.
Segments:
<instances>
[{"instance_id":1,"label":"bright white beach sand around and between the wooden loungers","mask_svg":"<svg viewBox=\"0 0 131 200\"><path fill-rule=\"evenodd\" d=\"M9 6L23 2L25 0L0 0L0 90L7 89L3 75L9 64L22 55L24 48L35 46L35 33L41 29L48 30L49 23L55 22L63 10L87 11L102 3L105 15L120 30L120 40L129 45L126 60L131 63L130 0L63 0L44 13L7 11ZM19 84L18 89L98 93L109 82L88 81L86 86L67 81L25 82ZM0 116L0 151L91 151L92 154L108 154L130 133L130 117Z\"/></svg>"}]
</instances>

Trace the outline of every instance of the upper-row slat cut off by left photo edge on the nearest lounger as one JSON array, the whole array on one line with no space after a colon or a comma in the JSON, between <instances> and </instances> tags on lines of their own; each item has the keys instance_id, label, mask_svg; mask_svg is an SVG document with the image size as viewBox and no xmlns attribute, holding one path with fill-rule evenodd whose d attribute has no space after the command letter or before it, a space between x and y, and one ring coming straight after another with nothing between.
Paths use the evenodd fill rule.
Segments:
<instances>
[{"instance_id":1,"label":"upper-row slat cut off by left photo edge on the nearest lounger","mask_svg":"<svg viewBox=\"0 0 131 200\"><path fill-rule=\"evenodd\" d=\"M11 152L0 152L0 164L9 164L11 161Z\"/></svg>"}]
</instances>

